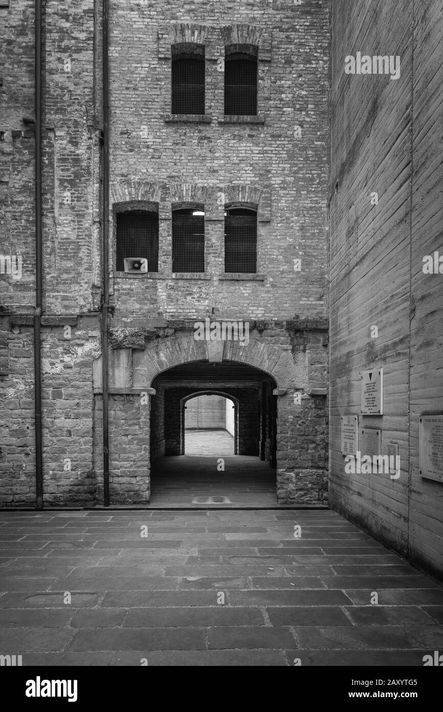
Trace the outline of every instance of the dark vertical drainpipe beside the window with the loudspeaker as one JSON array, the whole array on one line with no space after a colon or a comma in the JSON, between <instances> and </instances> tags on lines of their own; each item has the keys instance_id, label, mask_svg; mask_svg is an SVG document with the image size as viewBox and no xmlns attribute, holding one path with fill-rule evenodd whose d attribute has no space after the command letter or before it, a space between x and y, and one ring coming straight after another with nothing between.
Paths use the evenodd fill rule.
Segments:
<instances>
[{"instance_id":1,"label":"dark vertical drainpipe beside the window with the loudspeaker","mask_svg":"<svg viewBox=\"0 0 443 712\"><path fill-rule=\"evenodd\" d=\"M108 394L108 309L109 283L109 214L110 214L110 130L108 80L108 11L109 0L102 0L102 85L103 85L103 300L102 300L102 392L103 392L103 504L110 506L110 439Z\"/></svg>"}]
</instances>

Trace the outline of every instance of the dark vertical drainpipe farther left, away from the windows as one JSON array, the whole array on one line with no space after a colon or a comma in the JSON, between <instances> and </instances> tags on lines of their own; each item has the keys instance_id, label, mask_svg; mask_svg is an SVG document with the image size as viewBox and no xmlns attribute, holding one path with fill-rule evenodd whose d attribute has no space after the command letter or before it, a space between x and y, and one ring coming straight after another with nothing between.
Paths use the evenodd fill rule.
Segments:
<instances>
[{"instance_id":1,"label":"dark vertical drainpipe farther left, away from the windows","mask_svg":"<svg viewBox=\"0 0 443 712\"><path fill-rule=\"evenodd\" d=\"M41 211L41 0L36 0L35 26L36 111L36 311L34 313L34 409L36 436L36 508L43 509L43 446L41 431L41 310L42 211Z\"/></svg>"}]
</instances>

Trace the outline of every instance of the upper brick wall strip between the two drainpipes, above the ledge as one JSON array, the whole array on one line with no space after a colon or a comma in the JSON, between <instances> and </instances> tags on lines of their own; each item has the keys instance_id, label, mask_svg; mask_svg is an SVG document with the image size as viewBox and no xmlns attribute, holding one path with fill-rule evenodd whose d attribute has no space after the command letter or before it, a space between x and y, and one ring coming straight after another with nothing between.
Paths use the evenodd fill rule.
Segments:
<instances>
[{"instance_id":1,"label":"upper brick wall strip between the two drainpipes, above the ledge","mask_svg":"<svg viewBox=\"0 0 443 712\"><path fill-rule=\"evenodd\" d=\"M43 293L47 313L81 313L100 304L101 107L94 97L94 28L93 0L46 4Z\"/></svg>"}]
</instances>

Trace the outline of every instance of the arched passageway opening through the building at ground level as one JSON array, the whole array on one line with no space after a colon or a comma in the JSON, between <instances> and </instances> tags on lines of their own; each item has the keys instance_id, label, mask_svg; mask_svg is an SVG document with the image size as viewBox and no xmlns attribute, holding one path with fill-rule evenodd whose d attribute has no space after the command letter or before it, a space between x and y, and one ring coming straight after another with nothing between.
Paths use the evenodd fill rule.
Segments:
<instances>
[{"instance_id":1,"label":"arched passageway opening through the building at ground level","mask_svg":"<svg viewBox=\"0 0 443 712\"><path fill-rule=\"evenodd\" d=\"M241 362L199 361L162 372L152 387L154 506L277 503L277 399L269 374Z\"/></svg>"}]
</instances>

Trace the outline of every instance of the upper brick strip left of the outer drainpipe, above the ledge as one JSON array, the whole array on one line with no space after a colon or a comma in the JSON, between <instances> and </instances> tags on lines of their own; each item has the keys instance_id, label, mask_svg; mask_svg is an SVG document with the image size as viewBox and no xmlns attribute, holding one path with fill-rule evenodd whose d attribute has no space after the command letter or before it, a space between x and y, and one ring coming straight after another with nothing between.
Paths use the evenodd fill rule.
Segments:
<instances>
[{"instance_id":1,"label":"upper brick strip left of the outer drainpipe, above the ledge","mask_svg":"<svg viewBox=\"0 0 443 712\"><path fill-rule=\"evenodd\" d=\"M0 254L22 263L21 278L0 273L1 304L34 302L33 12L30 0L0 9Z\"/></svg>"}]
</instances>

